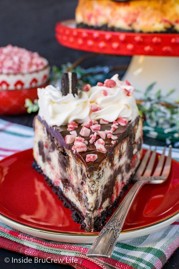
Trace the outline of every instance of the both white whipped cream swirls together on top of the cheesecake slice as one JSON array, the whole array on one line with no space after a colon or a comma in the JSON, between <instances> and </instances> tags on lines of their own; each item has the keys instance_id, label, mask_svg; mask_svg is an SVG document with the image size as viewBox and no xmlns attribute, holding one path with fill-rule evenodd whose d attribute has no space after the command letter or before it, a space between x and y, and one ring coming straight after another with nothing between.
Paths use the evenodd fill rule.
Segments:
<instances>
[{"instance_id":1,"label":"both white whipped cream swirls together on top of the cheesecake slice","mask_svg":"<svg viewBox=\"0 0 179 269\"><path fill-rule=\"evenodd\" d=\"M93 86L89 91L78 90L75 96L72 93L64 96L60 89L52 85L38 88L38 114L49 126L67 125L72 121L83 123L89 117L111 123L120 117L135 120L139 111L134 88L127 81L119 80L118 74L111 80L112 87L101 83L102 86Z\"/></svg>"}]
</instances>

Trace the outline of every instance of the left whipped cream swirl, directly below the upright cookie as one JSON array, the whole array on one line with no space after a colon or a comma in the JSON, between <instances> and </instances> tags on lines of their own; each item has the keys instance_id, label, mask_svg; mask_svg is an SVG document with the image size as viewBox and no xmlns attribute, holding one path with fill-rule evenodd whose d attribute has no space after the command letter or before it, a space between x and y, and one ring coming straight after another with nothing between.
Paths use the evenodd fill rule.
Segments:
<instances>
[{"instance_id":1,"label":"left whipped cream swirl, directly below the upright cookie","mask_svg":"<svg viewBox=\"0 0 179 269\"><path fill-rule=\"evenodd\" d=\"M84 91L79 91L78 95L67 94L48 85L46 88L38 88L39 116L45 120L49 126L67 125L75 121L83 123L89 116L89 99Z\"/></svg>"}]
</instances>

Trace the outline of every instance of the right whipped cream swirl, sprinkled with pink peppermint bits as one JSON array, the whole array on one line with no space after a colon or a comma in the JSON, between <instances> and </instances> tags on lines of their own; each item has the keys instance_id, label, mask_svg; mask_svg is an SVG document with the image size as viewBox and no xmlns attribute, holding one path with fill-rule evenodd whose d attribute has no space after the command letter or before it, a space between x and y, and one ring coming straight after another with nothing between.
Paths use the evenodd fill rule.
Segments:
<instances>
[{"instance_id":1,"label":"right whipped cream swirl, sprinkled with pink peppermint bits","mask_svg":"<svg viewBox=\"0 0 179 269\"><path fill-rule=\"evenodd\" d=\"M94 86L88 91L90 105L99 109L90 111L90 118L93 120L104 119L109 122L119 117L133 121L139 115L138 107L133 94L134 88L127 82L118 79L115 74L111 80L116 82L112 88ZM95 110L95 109L94 109Z\"/></svg>"}]
</instances>

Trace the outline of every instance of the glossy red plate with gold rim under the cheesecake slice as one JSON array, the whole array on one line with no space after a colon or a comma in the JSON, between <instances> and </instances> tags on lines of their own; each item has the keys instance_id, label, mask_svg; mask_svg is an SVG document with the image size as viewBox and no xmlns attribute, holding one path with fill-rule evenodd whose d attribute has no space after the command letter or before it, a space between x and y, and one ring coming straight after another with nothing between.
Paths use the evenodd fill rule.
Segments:
<instances>
[{"instance_id":1,"label":"glossy red plate with gold rim under the cheesecake slice","mask_svg":"<svg viewBox=\"0 0 179 269\"><path fill-rule=\"evenodd\" d=\"M0 161L0 215L43 231L89 236L79 230L80 224L71 219L71 211L63 207L32 163L32 149ZM179 213L178 170L179 163L172 160L171 173L164 184L148 184L140 190L122 233L158 224Z\"/></svg>"}]
</instances>

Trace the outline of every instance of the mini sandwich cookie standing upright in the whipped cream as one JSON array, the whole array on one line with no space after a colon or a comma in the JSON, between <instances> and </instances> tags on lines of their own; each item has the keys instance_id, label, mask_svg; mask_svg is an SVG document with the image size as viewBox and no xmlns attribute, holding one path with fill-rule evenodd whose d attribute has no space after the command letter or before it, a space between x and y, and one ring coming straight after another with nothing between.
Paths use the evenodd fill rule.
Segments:
<instances>
[{"instance_id":1,"label":"mini sandwich cookie standing upright in the whipped cream","mask_svg":"<svg viewBox=\"0 0 179 269\"><path fill-rule=\"evenodd\" d=\"M61 91L63 95L78 94L78 81L77 74L75 72L68 72L62 74L61 77Z\"/></svg>"}]
</instances>

